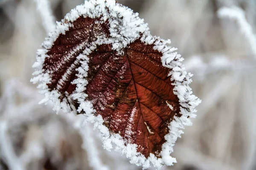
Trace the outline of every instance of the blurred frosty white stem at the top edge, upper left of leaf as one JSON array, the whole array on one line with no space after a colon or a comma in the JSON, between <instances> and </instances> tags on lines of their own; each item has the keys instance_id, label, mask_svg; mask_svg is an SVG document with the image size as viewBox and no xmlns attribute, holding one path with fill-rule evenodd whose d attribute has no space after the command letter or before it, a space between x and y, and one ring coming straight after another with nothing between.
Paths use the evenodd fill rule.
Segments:
<instances>
[{"instance_id":1,"label":"blurred frosty white stem at the top edge, upper left of leaf","mask_svg":"<svg viewBox=\"0 0 256 170\"><path fill-rule=\"evenodd\" d=\"M35 0L37 3L37 9L39 14L41 15L42 23L47 32L51 32L54 30L55 18L52 15L52 10L48 0Z\"/></svg>"}]
</instances>

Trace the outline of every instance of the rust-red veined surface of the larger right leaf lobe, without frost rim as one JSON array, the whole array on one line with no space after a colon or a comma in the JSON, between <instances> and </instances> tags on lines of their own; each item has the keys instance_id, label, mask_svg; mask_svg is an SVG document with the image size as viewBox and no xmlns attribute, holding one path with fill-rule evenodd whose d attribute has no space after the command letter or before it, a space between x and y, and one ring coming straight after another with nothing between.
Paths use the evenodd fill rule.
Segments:
<instances>
[{"instance_id":1,"label":"rust-red veined surface of the larger right leaf lobe, without frost rim","mask_svg":"<svg viewBox=\"0 0 256 170\"><path fill-rule=\"evenodd\" d=\"M137 144L145 157L159 155L169 122L180 112L167 77L170 70L160 57L152 45L140 40L128 45L123 56L110 45L101 45L90 55L86 93L96 113L112 132Z\"/></svg>"}]
</instances>

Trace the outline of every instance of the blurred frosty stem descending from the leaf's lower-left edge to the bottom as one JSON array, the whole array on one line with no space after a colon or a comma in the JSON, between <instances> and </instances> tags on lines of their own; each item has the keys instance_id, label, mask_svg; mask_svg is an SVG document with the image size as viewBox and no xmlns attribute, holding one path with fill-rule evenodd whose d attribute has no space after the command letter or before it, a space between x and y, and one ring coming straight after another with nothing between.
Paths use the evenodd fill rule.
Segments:
<instances>
[{"instance_id":1,"label":"blurred frosty stem descending from the leaf's lower-left edge to the bottom","mask_svg":"<svg viewBox=\"0 0 256 170\"><path fill-rule=\"evenodd\" d=\"M102 161L99 157L99 151L95 144L95 140L93 139L92 131L93 129L90 128L89 124L84 125L84 127L80 130L84 142L82 147L84 150L87 150L89 165L94 170L109 170L107 166L102 164Z\"/></svg>"}]
</instances>

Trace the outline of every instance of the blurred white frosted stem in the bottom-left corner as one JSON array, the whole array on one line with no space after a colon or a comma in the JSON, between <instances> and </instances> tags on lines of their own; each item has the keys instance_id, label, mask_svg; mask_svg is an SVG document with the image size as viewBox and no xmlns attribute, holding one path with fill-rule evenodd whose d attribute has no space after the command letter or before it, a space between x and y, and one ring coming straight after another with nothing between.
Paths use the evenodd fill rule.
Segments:
<instances>
[{"instance_id":1,"label":"blurred white frosted stem in the bottom-left corner","mask_svg":"<svg viewBox=\"0 0 256 170\"><path fill-rule=\"evenodd\" d=\"M24 170L22 164L20 164L20 161L17 159L17 156L13 151L13 147L11 146L12 142L6 134L7 130L7 122L0 122L0 152L5 156L11 170Z\"/></svg>"}]
</instances>

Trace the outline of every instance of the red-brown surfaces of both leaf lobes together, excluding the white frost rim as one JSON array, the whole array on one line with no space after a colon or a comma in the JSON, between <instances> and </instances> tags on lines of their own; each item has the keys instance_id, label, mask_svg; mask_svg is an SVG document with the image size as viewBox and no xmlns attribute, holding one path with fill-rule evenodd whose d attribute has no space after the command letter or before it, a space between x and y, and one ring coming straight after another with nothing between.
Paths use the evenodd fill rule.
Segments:
<instances>
[{"instance_id":1,"label":"red-brown surfaces of both leaf lobes together, excluding the white frost rim","mask_svg":"<svg viewBox=\"0 0 256 170\"><path fill-rule=\"evenodd\" d=\"M109 36L108 22L95 21L80 17L47 52L44 70L52 73L48 88L58 90L60 100L76 89L71 82L81 65L77 61L79 54L95 41L96 34ZM111 44L97 46L88 56L85 90L96 115L103 117L109 130L119 133L127 143L137 144L137 151L146 158L150 153L160 156L169 122L180 116L179 100L168 77L170 69L162 65L162 54L153 46L138 39L123 49L124 55L112 50ZM70 104L79 106L76 101Z\"/></svg>"}]
</instances>

